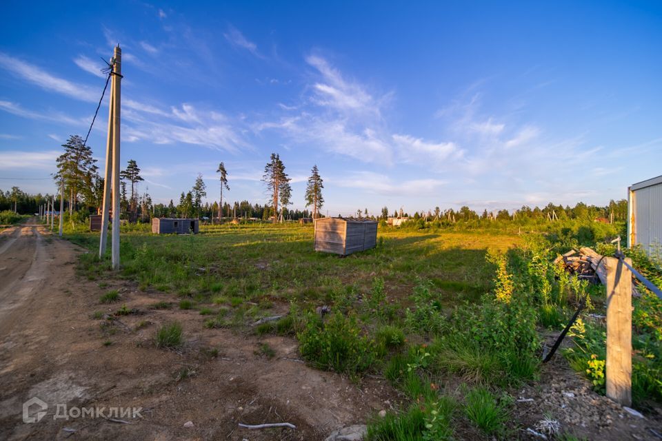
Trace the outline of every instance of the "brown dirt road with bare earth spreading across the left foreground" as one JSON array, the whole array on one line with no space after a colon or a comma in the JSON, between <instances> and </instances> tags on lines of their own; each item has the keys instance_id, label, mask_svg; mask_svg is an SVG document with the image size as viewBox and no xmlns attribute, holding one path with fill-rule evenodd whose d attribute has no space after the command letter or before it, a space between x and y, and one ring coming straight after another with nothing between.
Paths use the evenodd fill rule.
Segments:
<instances>
[{"instance_id":1,"label":"brown dirt road with bare earth spreading across the left foreground","mask_svg":"<svg viewBox=\"0 0 662 441\"><path fill-rule=\"evenodd\" d=\"M174 296L81 280L75 274L81 252L34 220L1 235L0 439L319 440L388 409L385 397L393 391L383 380L359 389L310 369L297 360L292 338L204 329L197 311L149 308ZM121 302L100 305L99 296L113 288ZM121 305L134 314L92 317L94 311L112 315ZM183 324L185 346L157 349L157 327L172 320ZM276 355L257 355L259 342ZM217 356L210 355L213 348ZM48 405L46 414L23 422L23 403L34 397ZM65 405L78 418L54 418L64 416ZM110 410L115 407L123 410ZM83 408L99 418L79 416ZM131 408L139 417L128 416ZM28 418L41 410L33 404ZM184 427L187 422L192 427ZM290 422L297 429L249 431L239 422Z\"/></svg>"}]
</instances>

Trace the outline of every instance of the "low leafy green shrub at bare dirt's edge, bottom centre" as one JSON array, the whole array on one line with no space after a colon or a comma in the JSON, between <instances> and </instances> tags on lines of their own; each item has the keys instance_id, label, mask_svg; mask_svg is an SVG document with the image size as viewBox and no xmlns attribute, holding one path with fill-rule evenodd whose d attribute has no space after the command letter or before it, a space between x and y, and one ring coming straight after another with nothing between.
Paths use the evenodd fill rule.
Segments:
<instances>
[{"instance_id":1,"label":"low leafy green shrub at bare dirt's edge, bottom centre","mask_svg":"<svg viewBox=\"0 0 662 441\"><path fill-rule=\"evenodd\" d=\"M320 369L340 373L361 373L375 360L374 344L357 326L354 316L340 312L327 322L309 313L303 331L297 334L301 356Z\"/></svg>"}]
</instances>

